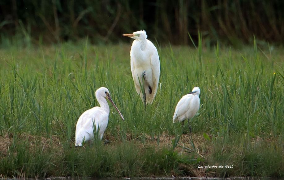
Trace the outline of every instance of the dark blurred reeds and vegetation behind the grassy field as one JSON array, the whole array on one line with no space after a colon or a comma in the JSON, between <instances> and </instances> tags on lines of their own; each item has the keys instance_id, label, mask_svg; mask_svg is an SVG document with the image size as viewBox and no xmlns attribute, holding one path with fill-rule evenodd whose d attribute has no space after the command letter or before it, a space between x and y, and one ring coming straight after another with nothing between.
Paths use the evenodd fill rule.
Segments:
<instances>
[{"instance_id":1,"label":"dark blurred reeds and vegetation behind the grassy field","mask_svg":"<svg viewBox=\"0 0 284 180\"><path fill-rule=\"evenodd\" d=\"M121 35L140 29L152 41L191 44L201 31L207 45L222 40L238 47L284 43L283 0L1 0L1 45L77 41L129 42ZM13 38L11 38L13 37Z\"/></svg>"}]
</instances>

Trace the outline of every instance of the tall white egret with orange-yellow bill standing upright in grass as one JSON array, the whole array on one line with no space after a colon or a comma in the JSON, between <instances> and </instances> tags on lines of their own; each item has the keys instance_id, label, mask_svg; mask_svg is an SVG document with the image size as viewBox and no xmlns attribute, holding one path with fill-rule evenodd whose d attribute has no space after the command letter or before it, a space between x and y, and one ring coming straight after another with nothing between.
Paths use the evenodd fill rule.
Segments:
<instances>
[{"instance_id":1,"label":"tall white egret with orange-yellow bill standing upright in grass","mask_svg":"<svg viewBox=\"0 0 284 180\"><path fill-rule=\"evenodd\" d=\"M130 50L130 65L136 92L145 106L147 103L152 104L160 78L160 59L157 48L147 39L144 30L123 35L135 39ZM144 86L144 92L140 84Z\"/></svg>"}]
</instances>

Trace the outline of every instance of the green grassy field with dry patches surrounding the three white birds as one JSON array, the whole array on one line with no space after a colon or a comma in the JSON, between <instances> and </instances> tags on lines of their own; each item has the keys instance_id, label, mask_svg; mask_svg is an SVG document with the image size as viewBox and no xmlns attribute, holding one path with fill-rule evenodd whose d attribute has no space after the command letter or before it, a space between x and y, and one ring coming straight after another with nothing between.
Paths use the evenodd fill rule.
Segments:
<instances>
[{"instance_id":1,"label":"green grassy field with dry patches surrounding the three white birds","mask_svg":"<svg viewBox=\"0 0 284 180\"><path fill-rule=\"evenodd\" d=\"M284 176L283 48L157 46L159 89L144 110L130 46L0 50L0 177ZM110 106L103 140L111 143L75 148L76 122L98 106L101 86L125 121ZM191 138L172 117L194 86Z\"/></svg>"}]
</instances>

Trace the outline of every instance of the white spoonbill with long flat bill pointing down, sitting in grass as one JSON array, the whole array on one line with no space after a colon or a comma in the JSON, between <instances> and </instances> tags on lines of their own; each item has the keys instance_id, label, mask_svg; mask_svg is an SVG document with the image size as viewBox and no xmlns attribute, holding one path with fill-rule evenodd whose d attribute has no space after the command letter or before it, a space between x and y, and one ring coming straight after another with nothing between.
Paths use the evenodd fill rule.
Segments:
<instances>
[{"instance_id":1,"label":"white spoonbill with long flat bill pointing down, sitting in grass","mask_svg":"<svg viewBox=\"0 0 284 180\"><path fill-rule=\"evenodd\" d=\"M122 114L112 101L110 92L107 88L98 88L95 93L97 101L101 107L96 106L88 109L79 117L75 132L75 146L82 146L83 141L92 141L94 139L94 130L99 133L98 135L101 136L102 139L110 115L110 107L107 104L106 98L114 105L115 109L124 121ZM96 125L96 129L94 129L94 125Z\"/></svg>"}]
</instances>

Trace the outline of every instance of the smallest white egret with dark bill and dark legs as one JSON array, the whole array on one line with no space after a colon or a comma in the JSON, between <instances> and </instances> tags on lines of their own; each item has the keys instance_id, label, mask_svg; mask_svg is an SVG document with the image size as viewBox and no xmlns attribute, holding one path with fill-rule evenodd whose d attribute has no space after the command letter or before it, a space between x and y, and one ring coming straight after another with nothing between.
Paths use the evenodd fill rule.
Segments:
<instances>
[{"instance_id":1,"label":"smallest white egret with dark bill and dark legs","mask_svg":"<svg viewBox=\"0 0 284 180\"><path fill-rule=\"evenodd\" d=\"M191 134L191 125L189 124L189 119L191 119L199 109L200 105L200 88L194 87L192 92L184 95L178 102L177 106L174 110L173 122L182 122L182 126L184 124L184 120L188 119L188 126Z\"/></svg>"}]
</instances>

